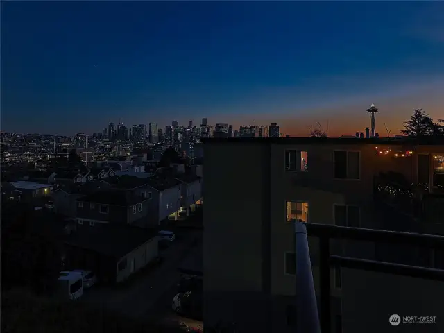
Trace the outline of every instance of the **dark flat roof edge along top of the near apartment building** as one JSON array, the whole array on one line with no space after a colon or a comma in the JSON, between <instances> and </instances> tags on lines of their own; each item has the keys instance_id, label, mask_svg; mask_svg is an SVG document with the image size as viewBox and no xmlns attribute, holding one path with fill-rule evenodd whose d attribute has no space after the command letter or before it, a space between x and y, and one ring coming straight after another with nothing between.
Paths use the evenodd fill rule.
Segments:
<instances>
[{"instance_id":1,"label":"dark flat roof edge along top of the near apartment building","mask_svg":"<svg viewBox=\"0 0 444 333\"><path fill-rule=\"evenodd\" d=\"M444 136L435 137L203 137L204 144L212 143L248 143L248 144L411 144L420 146L442 146Z\"/></svg>"}]
</instances>

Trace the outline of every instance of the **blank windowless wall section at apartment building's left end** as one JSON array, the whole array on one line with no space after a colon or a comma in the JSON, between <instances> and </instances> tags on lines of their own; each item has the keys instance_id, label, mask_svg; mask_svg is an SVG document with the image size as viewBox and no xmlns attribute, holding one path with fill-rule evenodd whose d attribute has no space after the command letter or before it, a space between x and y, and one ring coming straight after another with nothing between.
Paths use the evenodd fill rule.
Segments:
<instances>
[{"instance_id":1,"label":"blank windowless wall section at apartment building's left end","mask_svg":"<svg viewBox=\"0 0 444 333\"><path fill-rule=\"evenodd\" d=\"M262 277L267 157L259 145L205 145L205 325L236 321L249 323L244 327L249 332L267 332L262 321L268 316Z\"/></svg>"}]
</instances>

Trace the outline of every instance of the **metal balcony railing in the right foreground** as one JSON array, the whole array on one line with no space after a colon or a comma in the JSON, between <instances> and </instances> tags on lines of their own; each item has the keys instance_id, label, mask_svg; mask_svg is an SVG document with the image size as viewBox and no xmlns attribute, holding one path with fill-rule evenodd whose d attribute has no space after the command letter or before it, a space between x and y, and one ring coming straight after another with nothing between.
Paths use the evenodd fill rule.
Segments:
<instances>
[{"instance_id":1,"label":"metal balcony railing in the right foreground","mask_svg":"<svg viewBox=\"0 0 444 333\"><path fill-rule=\"evenodd\" d=\"M330 266L444 281L444 271L439 269L330 255L330 239L409 244L411 246L441 250L444 249L444 237L442 236L313 223L296 223L295 234L297 253L296 274L298 281L296 290L299 295L297 301L305 305L297 307L297 332L319 332L319 327L321 327L322 333L331 332ZM319 238L320 318L318 317L317 307L312 306L316 304L316 295L314 293L313 275L309 262L307 234ZM307 307L307 305L310 306Z\"/></svg>"}]
</instances>

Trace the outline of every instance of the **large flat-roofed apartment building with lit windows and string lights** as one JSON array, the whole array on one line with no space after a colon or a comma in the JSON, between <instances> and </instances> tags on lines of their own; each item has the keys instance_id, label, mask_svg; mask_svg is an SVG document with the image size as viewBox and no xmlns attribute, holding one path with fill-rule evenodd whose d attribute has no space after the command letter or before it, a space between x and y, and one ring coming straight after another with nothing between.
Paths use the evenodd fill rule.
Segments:
<instances>
[{"instance_id":1,"label":"large flat-roofed apartment building with lit windows and string lights","mask_svg":"<svg viewBox=\"0 0 444 333\"><path fill-rule=\"evenodd\" d=\"M440 166L434 160L444 155L444 146L430 144L348 138L205 139L205 325L223 319L236 322L242 331L294 331L293 222L384 228L387 219L381 218L382 210L375 210L373 200L375 176L395 170L411 182L427 178L429 191L437 191ZM316 239L309 237L309 246L317 291ZM332 241L331 247L335 254L375 259L372 243ZM407 278L381 280L359 274L332 268L332 332L390 330L384 311L395 313L400 302L388 297L386 307L378 305L387 293L381 285L386 281L392 291L396 284L404 291L418 291L423 285ZM369 276L373 287L364 288ZM434 290L427 295L435 297L441 289L430 283L422 292ZM375 297L368 300L372 294ZM435 300L427 298L432 309ZM379 317L370 316L378 307L384 308ZM357 314L360 322L354 320Z\"/></svg>"}]
</instances>

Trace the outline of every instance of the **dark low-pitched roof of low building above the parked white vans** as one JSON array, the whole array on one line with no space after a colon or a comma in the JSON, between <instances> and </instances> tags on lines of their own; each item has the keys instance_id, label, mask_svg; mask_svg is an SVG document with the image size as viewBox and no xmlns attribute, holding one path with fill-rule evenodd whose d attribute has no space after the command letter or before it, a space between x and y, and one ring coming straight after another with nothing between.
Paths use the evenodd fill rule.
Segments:
<instances>
[{"instance_id":1,"label":"dark low-pitched roof of low building above the parked white vans","mask_svg":"<svg viewBox=\"0 0 444 333\"><path fill-rule=\"evenodd\" d=\"M155 230L133 225L107 225L106 228L79 228L65 243L121 258L157 235Z\"/></svg>"}]
</instances>

